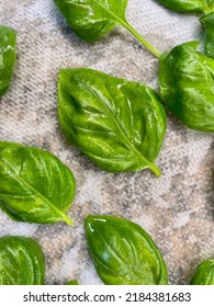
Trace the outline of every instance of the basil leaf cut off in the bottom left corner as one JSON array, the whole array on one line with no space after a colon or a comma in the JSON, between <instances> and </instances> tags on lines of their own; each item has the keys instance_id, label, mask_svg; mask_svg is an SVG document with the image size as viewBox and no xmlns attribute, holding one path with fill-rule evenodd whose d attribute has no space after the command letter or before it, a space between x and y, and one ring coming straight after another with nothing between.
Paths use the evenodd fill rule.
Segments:
<instances>
[{"instance_id":1,"label":"basil leaf cut off in the bottom left corner","mask_svg":"<svg viewBox=\"0 0 214 307\"><path fill-rule=\"evenodd\" d=\"M44 285L45 262L31 238L0 238L0 285Z\"/></svg>"}]
</instances>

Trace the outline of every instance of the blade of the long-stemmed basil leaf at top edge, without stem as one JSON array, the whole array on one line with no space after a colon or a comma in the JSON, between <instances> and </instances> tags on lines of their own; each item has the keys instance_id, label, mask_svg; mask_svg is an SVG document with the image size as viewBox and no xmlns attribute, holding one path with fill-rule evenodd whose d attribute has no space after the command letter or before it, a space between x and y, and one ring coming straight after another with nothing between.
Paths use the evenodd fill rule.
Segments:
<instances>
[{"instance_id":1,"label":"blade of the long-stemmed basil leaf at top edge, without stem","mask_svg":"<svg viewBox=\"0 0 214 307\"><path fill-rule=\"evenodd\" d=\"M127 0L55 0L55 3L79 37L94 41L125 20Z\"/></svg>"}]
</instances>

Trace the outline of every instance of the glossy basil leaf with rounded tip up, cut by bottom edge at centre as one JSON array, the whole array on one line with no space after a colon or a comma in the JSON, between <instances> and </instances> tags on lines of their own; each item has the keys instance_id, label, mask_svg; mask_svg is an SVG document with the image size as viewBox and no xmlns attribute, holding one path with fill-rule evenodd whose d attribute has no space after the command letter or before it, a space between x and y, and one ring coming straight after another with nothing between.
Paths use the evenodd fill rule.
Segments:
<instances>
[{"instance_id":1,"label":"glossy basil leaf with rounded tip up, cut by bottom edge at centre","mask_svg":"<svg viewBox=\"0 0 214 307\"><path fill-rule=\"evenodd\" d=\"M85 227L91 258L104 284L168 284L166 263L142 227L104 215L88 216Z\"/></svg>"}]
</instances>

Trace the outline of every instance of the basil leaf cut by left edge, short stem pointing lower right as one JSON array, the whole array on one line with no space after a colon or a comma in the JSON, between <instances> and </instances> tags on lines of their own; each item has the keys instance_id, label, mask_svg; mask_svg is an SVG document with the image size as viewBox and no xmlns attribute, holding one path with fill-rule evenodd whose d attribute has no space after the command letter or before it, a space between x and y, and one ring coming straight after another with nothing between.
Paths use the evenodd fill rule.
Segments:
<instances>
[{"instance_id":1,"label":"basil leaf cut by left edge, short stem pointing lower right","mask_svg":"<svg viewBox=\"0 0 214 307\"><path fill-rule=\"evenodd\" d=\"M42 149L0 141L0 207L14 220L65 221L75 195L71 171Z\"/></svg>"}]
</instances>

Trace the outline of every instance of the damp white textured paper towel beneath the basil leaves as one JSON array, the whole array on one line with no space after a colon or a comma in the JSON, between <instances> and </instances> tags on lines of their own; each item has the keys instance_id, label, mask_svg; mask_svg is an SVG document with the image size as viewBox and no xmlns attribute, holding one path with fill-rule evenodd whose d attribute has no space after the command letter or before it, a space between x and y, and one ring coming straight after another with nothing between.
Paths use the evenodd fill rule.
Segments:
<instances>
[{"instance_id":1,"label":"damp white textured paper towel beneath the basil leaves","mask_svg":"<svg viewBox=\"0 0 214 307\"><path fill-rule=\"evenodd\" d=\"M195 16L170 12L153 0L129 0L127 19L160 52L202 39ZM56 110L58 70L90 67L156 89L158 60L122 27L100 42L85 43L53 0L0 0L0 24L18 33L12 84L0 100L0 138L49 150L77 179L76 200L68 212L74 227L14 223L0 212L0 235L31 236L41 243L47 284L72 278L101 284L88 254L83 219L88 214L123 216L155 239L171 284L187 283L199 262L214 257L213 135L190 130L169 115L157 160L160 178L147 170L101 171L61 135Z\"/></svg>"}]
</instances>

